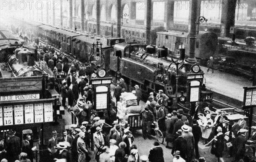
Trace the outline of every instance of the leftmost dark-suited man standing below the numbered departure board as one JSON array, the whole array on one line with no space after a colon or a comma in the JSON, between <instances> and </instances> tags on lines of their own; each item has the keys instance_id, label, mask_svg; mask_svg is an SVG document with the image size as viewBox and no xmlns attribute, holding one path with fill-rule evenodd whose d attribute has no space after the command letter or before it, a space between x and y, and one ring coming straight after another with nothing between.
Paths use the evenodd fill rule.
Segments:
<instances>
[{"instance_id":1,"label":"leftmost dark-suited man standing below the numbered departure board","mask_svg":"<svg viewBox=\"0 0 256 162\"><path fill-rule=\"evenodd\" d=\"M7 141L7 159L10 162L14 162L15 160L19 160L19 154L21 152L20 148L20 138L15 136L15 131L9 131L9 140Z\"/></svg>"}]
</instances>

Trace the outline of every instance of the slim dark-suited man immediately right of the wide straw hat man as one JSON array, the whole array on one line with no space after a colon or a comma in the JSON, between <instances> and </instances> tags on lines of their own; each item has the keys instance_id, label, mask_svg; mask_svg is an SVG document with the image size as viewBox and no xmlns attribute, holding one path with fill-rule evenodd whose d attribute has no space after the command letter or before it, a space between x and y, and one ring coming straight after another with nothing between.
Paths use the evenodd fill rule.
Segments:
<instances>
[{"instance_id":1,"label":"slim dark-suited man immediately right of the wide straw hat man","mask_svg":"<svg viewBox=\"0 0 256 162\"><path fill-rule=\"evenodd\" d=\"M200 137L202 135L201 128L197 125L197 121L193 120L192 133L195 139L195 157L199 158L198 152L198 142L200 141Z\"/></svg>"}]
</instances>

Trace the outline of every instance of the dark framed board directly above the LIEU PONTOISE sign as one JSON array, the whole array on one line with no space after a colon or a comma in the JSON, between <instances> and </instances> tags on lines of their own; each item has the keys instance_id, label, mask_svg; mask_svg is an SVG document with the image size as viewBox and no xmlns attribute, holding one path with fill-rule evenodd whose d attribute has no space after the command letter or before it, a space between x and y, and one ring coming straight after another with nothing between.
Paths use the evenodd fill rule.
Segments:
<instances>
[{"instance_id":1,"label":"dark framed board directly above the LIEU PONTOISE sign","mask_svg":"<svg viewBox=\"0 0 256 162\"><path fill-rule=\"evenodd\" d=\"M30 91L30 90L41 90L41 80L29 80L29 81L5 81L0 82L0 93L1 92L17 92L17 91Z\"/></svg>"}]
</instances>

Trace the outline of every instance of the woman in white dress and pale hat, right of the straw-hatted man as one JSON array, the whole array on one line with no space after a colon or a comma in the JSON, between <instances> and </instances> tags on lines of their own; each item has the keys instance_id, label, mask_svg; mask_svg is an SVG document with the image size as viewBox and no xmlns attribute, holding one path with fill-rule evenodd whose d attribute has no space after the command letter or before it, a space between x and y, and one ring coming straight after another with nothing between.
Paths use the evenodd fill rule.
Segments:
<instances>
[{"instance_id":1,"label":"woman in white dress and pale hat, right of the straw-hatted man","mask_svg":"<svg viewBox=\"0 0 256 162\"><path fill-rule=\"evenodd\" d=\"M199 119L198 124L201 127L202 138L205 139L204 145L206 145L213 127L213 121L211 119L211 115L207 114L206 120Z\"/></svg>"}]
</instances>

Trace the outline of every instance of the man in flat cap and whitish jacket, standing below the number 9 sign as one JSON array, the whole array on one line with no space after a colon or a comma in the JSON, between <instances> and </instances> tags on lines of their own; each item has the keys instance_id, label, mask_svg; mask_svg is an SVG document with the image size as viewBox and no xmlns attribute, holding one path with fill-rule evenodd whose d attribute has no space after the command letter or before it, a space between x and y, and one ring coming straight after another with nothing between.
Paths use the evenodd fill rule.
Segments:
<instances>
[{"instance_id":1,"label":"man in flat cap and whitish jacket, standing below the number 9 sign","mask_svg":"<svg viewBox=\"0 0 256 162\"><path fill-rule=\"evenodd\" d=\"M93 133L93 142L94 142L94 158L98 159L97 156L98 150L102 149L102 147L105 145L103 135L101 133L102 129L101 127L96 127L96 132Z\"/></svg>"}]
</instances>

